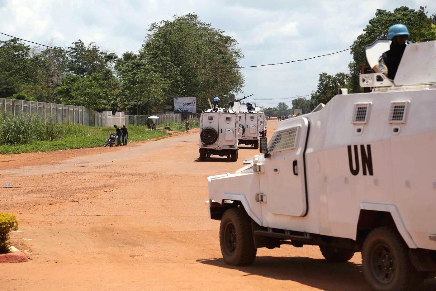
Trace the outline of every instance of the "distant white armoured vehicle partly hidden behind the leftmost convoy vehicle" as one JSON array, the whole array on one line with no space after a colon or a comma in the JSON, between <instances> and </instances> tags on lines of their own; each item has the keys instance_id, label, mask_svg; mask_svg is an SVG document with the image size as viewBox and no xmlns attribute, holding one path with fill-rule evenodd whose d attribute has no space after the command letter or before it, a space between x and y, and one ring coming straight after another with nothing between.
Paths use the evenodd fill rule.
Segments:
<instances>
[{"instance_id":1,"label":"distant white armoured vehicle partly hidden behind the leftmost convoy vehicle","mask_svg":"<svg viewBox=\"0 0 436 291\"><path fill-rule=\"evenodd\" d=\"M244 103L234 102L230 110L238 114L239 127L242 134L239 136L239 144L251 145L254 149L259 148L259 107L255 110L247 110Z\"/></svg>"}]
</instances>

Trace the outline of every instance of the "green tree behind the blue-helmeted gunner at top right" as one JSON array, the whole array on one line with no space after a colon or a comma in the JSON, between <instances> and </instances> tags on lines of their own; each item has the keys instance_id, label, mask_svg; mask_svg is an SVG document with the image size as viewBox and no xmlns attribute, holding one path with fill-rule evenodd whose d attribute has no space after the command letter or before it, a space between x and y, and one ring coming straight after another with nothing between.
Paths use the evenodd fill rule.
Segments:
<instances>
[{"instance_id":1,"label":"green tree behind the blue-helmeted gunner at top right","mask_svg":"<svg viewBox=\"0 0 436 291\"><path fill-rule=\"evenodd\" d=\"M357 93L361 91L358 77L361 74L361 67L368 65L364 52L365 46L373 43L378 38L387 38L389 27L393 24L405 24L409 28L409 40L413 42L436 39L435 26L432 24L432 18L427 17L427 13L425 7L422 6L419 10L402 6L395 8L393 12L377 9L375 17L364 28L364 33L360 34L351 45L353 62L349 65L351 72L350 92ZM434 14L432 17L435 17Z\"/></svg>"}]
</instances>

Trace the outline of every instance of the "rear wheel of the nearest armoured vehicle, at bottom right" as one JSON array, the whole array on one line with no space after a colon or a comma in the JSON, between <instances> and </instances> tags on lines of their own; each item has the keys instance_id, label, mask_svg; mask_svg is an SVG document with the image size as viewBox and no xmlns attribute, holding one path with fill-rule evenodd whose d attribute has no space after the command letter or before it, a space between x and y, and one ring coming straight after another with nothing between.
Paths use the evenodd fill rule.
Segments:
<instances>
[{"instance_id":1,"label":"rear wheel of the nearest armoured vehicle, at bottom right","mask_svg":"<svg viewBox=\"0 0 436 291\"><path fill-rule=\"evenodd\" d=\"M409 259L409 247L388 227L373 229L362 247L363 274L373 290L416 289L422 274Z\"/></svg>"}]
</instances>

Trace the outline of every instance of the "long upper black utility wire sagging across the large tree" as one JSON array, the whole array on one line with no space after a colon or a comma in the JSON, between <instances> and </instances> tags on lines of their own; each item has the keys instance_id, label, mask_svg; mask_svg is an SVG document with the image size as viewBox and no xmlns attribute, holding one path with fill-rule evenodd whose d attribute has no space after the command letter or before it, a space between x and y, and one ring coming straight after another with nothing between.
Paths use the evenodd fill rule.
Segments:
<instances>
[{"instance_id":1,"label":"long upper black utility wire sagging across the large tree","mask_svg":"<svg viewBox=\"0 0 436 291\"><path fill-rule=\"evenodd\" d=\"M12 35L9 35L9 34L5 34L3 32L0 32L0 34L6 35L6 36L8 36L10 38L17 38L15 36L12 36ZM43 47L46 47L46 48L51 48L51 49L55 49L55 50L58 50L58 51L65 51L65 52L68 52L70 54L83 55L83 56L87 56L87 57L90 57L90 58L98 58L98 59L106 60L106 61L109 61L109 62L121 62L121 63L132 64L132 65L151 65L151 66L157 66L157 67L162 67L162 68L171 68L171 67L168 67L168 66L159 66L159 65L152 65L152 64L145 64L145 63L133 63L133 62L127 62L127 61L117 60L117 59L112 59L112 58L98 57L98 56L95 56L95 55L86 55L86 54L83 54L83 53L80 53L80 52L68 51L68 50L65 50L65 49L62 49L62 48L51 47L49 45L43 45L43 44L40 44L40 43L37 43L37 42L34 42L34 41L28 41L28 40L25 40L23 38L17 38L17 39L19 39L20 41L30 42L30 43L35 44L35 45L40 45L40 46L43 46ZM252 66L233 66L233 67L207 67L206 66L206 67L200 67L200 68L194 68L194 69L204 69L204 68L209 68L209 69L257 68L257 67L272 66L272 65L283 65L283 64L290 64L290 63L294 63L294 62L307 61L307 60L311 60L313 58L325 57L327 55L334 55L334 54L338 54L340 52L348 51L348 50L351 50L351 48L347 48L347 49L344 49L342 51L332 52L330 54L317 55L317 56L311 57L311 58L303 58L303 59L300 59L300 60L294 60L294 61L289 61L289 62L281 62L281 63L273 63L273 64L252 65ZM181 67L181 68L193 68L193 67Z\"/></svg>"}]
</instances>

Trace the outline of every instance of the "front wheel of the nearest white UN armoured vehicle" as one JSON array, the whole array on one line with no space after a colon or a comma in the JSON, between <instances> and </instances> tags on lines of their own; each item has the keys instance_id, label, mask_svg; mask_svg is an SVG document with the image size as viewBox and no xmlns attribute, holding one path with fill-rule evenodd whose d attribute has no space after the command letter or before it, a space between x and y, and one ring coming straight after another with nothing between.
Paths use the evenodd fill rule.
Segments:
<instances>
[{"instance_id":1,"label":"front wheel of the nearest white UN armoured vehicle","mask_svg":"<svg viewBox=\"0 0 436 291\"><path fill-rule=\"evenodd\" d=\"M254 246L251 218L244 209L227 209L221 219L219 241L222 257L232 266L252 264L257 253Z\"/></svg>"}]
</instances>

